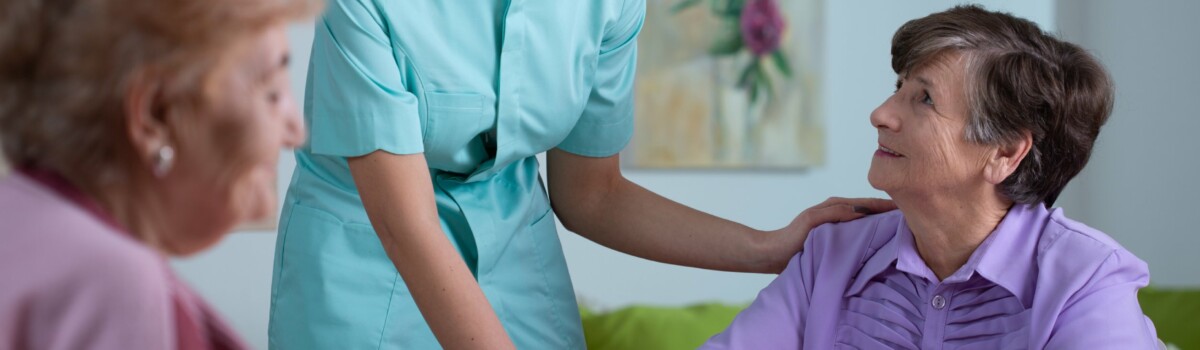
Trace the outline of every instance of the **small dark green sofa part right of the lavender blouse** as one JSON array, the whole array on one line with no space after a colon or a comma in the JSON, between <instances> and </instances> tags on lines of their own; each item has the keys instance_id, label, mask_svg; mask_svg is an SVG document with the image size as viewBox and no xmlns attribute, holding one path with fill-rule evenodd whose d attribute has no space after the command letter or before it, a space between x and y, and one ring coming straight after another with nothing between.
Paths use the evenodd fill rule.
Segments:
<instances>
[{"instance_id":1,"label":"small dark green sofa part right of the lavender blouse","mask_svg":"<svg viewBox=\"0 0 1200 350\"><path fill-rule=\"evenodd\" d=\"M1200 349L1200 290L1144 288L1138 302L1154 321L1159 339L1180 349Z\"/></svg>"}]
</instances>

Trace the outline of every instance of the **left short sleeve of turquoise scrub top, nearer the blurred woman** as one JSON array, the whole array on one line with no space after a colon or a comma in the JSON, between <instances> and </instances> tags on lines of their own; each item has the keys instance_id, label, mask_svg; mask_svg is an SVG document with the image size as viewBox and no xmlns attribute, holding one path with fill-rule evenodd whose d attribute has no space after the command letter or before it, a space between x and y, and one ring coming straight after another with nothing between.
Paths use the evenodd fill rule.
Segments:
<instances>
[{"instance_id":1,"label":"left short sleeve of turquoise scrub top, nearer the blurred woman","mask_svg":"<svg viewBox=\"0 0 1200 350\"><path fill-rule=\"evenodd\" d=\"M401 55L373 4L330 1L317 22L308 66L306 110L313 153L424 151L419 104L406 89Z\"/></svg>"}]
</instances>

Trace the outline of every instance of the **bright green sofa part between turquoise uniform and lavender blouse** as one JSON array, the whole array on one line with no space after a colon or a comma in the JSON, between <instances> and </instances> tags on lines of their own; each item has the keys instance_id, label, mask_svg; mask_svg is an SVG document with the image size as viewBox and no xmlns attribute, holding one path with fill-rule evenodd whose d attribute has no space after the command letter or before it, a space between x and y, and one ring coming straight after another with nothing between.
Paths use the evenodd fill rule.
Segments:
<instances>
[{"instance_id":1,"label":"bright green sofa part between turquoise uniform and lavender blouse","mask_svg":"<svg viewBox=\"0 0 1200 350\"><path fill-rule=\"evenodd\" d=\"M696 349L746 306L632 306L607 313L581 308L588 349Z\"/></svg>"}]
</instances>

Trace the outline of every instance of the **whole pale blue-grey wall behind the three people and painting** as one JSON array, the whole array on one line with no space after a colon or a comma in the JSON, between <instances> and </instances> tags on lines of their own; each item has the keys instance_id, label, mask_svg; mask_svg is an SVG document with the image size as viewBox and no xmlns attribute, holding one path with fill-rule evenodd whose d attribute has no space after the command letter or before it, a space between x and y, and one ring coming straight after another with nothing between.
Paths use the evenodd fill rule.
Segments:
<instances>
[{"instance_id":1,"label":"whole pale blue-grey wall behind the three people and painting","mask_svg":"<svg viewBox=\"0 0 1200 350\"><path fill-rule=\"evenodd\" d=\"M823 105L829 141L824 167L802 173L626 170L626 175L667 198L760 229L781 227L826 197L882 195L865 180L875 150L868 115L894 86L888 56L892 34L908 19L956 2L826 1L828 101ZM1108 231L1150 261L1154 283L1200 285L1192 271L1200 260L1186 252L1200 243L1200 235L1183 225L1183 218L1196 213L1184 200L1200 197L1200 186L1187 181L1200 170L1194 156L1200 146L1187 140L1200 129L1200 119L1184 105L1200 92L1200 71L1189 65L1200 61L1200 41L1189 37L1200 30L1187 22L1198 14L1195 4L1200 2L1181 0L1152 8L1134 2L1081 2L1063 0L1056 7L1039 0L984 1L989 8L1014 12L1044 28L1056 28L1056 12L1063 8L1088 18L1063 13L1064 31L1068 38L1073 38L1072 30L1087 34L1075 40L1097 50L1121 92L1093 163L1068 188L1062 204L1068 215ZM298 93L311 31L311 25L300 25L289 32ZM292 156L284 155L281 188L292 167ZM772 278L667 266L608 251L565 230L560 236L581 300L601 308L745 302ZM274 245L274 233L239 233L210 252L174 264L257 348L266 344Z\"/></svg>"}]
</instances>

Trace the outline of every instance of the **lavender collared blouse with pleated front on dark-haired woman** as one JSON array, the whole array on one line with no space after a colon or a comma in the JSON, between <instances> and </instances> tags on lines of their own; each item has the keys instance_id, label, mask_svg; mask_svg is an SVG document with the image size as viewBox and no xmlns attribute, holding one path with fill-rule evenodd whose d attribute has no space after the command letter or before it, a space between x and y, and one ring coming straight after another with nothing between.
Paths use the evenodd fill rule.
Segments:
<instances>
[{"instance_id":1,"label":"lavender collared blouse with pleated front on dark-haired woman","mask_svg":"<svg viewBox=\"0 0 1200 350\"><path fill-rule=\"evenodd\" d=\"M812 230L701 349L1157 349L1146 262L1096 229L1014 205L938 282L899 211Z\"/></svg>"}]
</instances>

